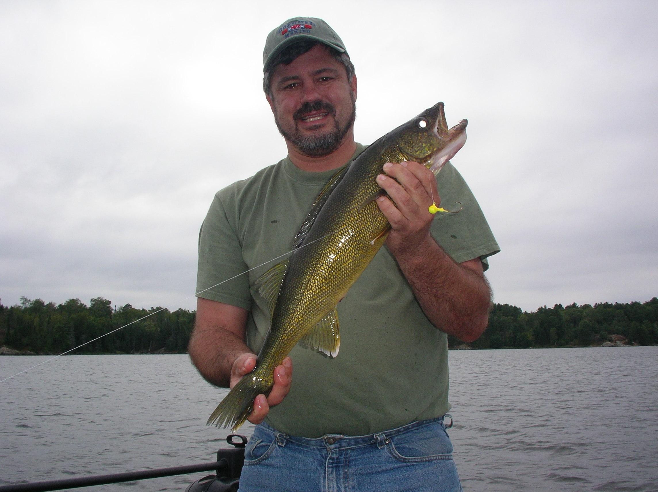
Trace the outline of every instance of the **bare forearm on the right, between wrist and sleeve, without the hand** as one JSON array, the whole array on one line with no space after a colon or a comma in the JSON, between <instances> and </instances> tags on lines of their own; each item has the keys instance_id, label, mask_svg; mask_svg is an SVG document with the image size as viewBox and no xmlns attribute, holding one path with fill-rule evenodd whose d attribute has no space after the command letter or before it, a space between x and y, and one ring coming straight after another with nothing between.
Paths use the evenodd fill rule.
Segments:
<instances>
[{"instance_id":1,"label":"bare forearm on the right, between wrist and sleeve, without the hand","mask_svg":"<svg viewBox=\"0 0 658 492\"><path fill-rule=\"evenodd\" d=\"M456 263L428 235L414 251L393 251L428 319L443 332L474 341L488 323L491 291L480 271Z\"/></svg>"}]
</instances>

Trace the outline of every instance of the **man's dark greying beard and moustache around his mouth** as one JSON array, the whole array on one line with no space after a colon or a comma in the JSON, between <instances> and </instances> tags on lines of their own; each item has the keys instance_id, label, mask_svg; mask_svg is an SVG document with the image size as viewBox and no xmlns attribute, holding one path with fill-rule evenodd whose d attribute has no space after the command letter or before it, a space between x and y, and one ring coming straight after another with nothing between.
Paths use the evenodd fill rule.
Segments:
<instances>
[{"instance_id":1,"label":"man's dark greying beard and moustache around his mouth","mask_svg":"<svg viewBox=\"0 0 658 492\"><path fill-rule=\"evenodd\" d=\"M349 118L345 121L345 124L341 125L336 118L336 108L330 103L323 103L322 101L315 101L313 103L304 103L297 111L293 114L293 122L295 123L294 131L288 131L283 128L281 122L276 117L276 112L274 113L274 122L276 123L276 128L278 128L279 133L283 137L290 141L300 153L308 157L325 157L330 153L334 152L340 144L343 142L343 138L349 132L349 129L352 128L354 120L357 118L357 106L354 101L354 95L351 94L351 112ZM316 135L303 135L299 132L297 127L297 120L301 118L303 114L307 114L312 111L326 111L329 116L334 118L334 123L336 128L328 132Z\"/></svg>"}]
</instances>

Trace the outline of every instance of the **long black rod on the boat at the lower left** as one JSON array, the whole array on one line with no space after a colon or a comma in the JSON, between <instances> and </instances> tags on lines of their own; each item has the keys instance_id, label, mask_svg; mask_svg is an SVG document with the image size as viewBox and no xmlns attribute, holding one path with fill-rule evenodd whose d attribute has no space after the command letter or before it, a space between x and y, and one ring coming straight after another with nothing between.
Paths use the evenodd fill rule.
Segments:
<instances>
[{"instance_id":1,"label":"long black rod on the boat at the lower left","mask_svg":"<svg viewBox=\"0 0 658 492\"><path fill-rule=\"evenodd\" d=\"M223 460L226 461L226 460ZM141 470L140 472L124 472L111 475L94 475L89 477L64 478L62 480L45 480L32 483L13 483L0 485L0 492L44 492L49 490L74 489L76 487L90 487L91 485L104 485L122 481L145 480L147 478L169 477L172 475L185 475L188 473L209 472L224 466L222 461L172 466L170 468L157 468L156 470Z\"/></svg>"}]
</instances>

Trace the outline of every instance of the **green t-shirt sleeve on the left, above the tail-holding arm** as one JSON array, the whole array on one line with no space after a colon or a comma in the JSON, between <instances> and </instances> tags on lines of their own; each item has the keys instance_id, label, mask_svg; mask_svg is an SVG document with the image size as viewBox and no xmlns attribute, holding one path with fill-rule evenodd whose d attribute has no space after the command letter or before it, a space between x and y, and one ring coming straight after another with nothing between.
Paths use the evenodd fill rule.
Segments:
<instances>
[{"instance_id":1,"label":"green t-shirt sleeve on the left, above the tail-holding arm","mask_svg":"<svg viewBox=\"0 0 658 492\"><path fill-rule=\"evenodd\" d=\"M196 296L249 309L248 267L242 257L236 218L222 202L221 191L208 210L199 232Z\"/></svg>"}]
</instances>

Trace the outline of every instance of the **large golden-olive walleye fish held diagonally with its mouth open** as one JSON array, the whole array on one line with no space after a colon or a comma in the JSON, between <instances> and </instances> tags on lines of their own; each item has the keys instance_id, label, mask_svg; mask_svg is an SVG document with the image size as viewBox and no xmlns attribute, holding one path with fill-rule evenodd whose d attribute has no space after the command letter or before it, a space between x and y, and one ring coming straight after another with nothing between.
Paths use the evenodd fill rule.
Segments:
<instances>
[{"instance_id":1,"label":"large golden-olive walleye fish held diagonally with its mouth open","mask_svg":"<svg viewBox=\"0 0 658 492\"><path fill-rule=\"evenodd\" d=\"M466 141L467 120L448 129L443 103L420 113L370 145L322 189L293 241L293 253L259 280L272 316L252 372L217 406L208 424L236 430L253 411L257 395L268 395L274 368L295 344L330 357L338 355L336 306L382 247L390 224L376 198L386 162L413 160L434 174Z\"/></svg>"}]
</instances>

